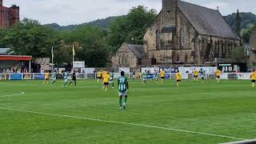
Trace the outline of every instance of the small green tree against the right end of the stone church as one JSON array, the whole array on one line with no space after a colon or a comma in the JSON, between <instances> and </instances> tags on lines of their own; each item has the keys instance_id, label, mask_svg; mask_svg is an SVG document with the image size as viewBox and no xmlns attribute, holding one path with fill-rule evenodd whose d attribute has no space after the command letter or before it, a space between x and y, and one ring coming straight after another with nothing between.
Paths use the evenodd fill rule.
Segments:
<instances>
[{"instance_id":1,"label":"small green tree against the right end of the stone church","mask_svg":"<svg viewBox=\"0 0 256 144\"><path fill-rule=\"evenodd\" d=\"M230 52L230 58L232 62L243 63L246 62L247 57L243 47L236 47Z\"/></svg>"}]
</instances>

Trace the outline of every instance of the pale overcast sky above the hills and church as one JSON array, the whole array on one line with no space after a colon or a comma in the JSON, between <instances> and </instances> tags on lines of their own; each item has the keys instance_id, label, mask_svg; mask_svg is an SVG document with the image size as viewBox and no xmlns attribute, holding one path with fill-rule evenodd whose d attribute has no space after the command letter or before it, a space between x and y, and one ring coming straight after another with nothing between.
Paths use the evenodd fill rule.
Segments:
<instances>
[{"instance_id":1,"label":"pale overcast sky above the hills and church","mask_svg":"<svg viewBox=\"0 0 256 144\"><path fill-rule=\"evenodd\" d=\"M219 10L223 15L236 12L256 14L255 0L185 0ZM133 6L144 5L158 11L162 0L3 0L5 6L20 6L21 18L37 19L42 24L56 22L62 26L127 14Z\"/></svg>"}]
</instances>

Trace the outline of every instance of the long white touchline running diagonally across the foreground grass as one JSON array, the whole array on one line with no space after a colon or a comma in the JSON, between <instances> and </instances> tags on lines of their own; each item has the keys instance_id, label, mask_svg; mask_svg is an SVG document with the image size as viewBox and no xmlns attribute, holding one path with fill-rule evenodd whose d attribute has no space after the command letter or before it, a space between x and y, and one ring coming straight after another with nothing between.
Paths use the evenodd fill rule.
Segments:
<instances>
[{"instance_id":1,"label":"long white touchline running diagonally across the foreground grass","mask_svg":"<svg viewBox=\"0 0 256 144\"><path fill-rule=\"evenodd\" d=\"M50 116L58 116L58 117L62 117L62 118L77 118L77 119L86 119L86 120L97 121L97 122L109 122L109 123L117 123L117 124L130 125L130 126L142 126L142 127L149 127L149 128L161 129L161 130L179 131L179 132L190 133L190 134L208 135L208 136L219 137L219 138L231 138L231 139L237 139L237 140L245 140L243 138L230 137L230 136L221 135L221 134L210 134L210 133L202 133L202 132L190 131L190 130L179 130L179 129L172 129L172 128L167 128L167 127L162 127L162 126L150 126L150 125L142 125L142 124L129 123L129 122L115 122L115 121L108 121L108 120L95 119L95 118L84 118L84 117L78 117L78 116L63 115L63 114L50 114L50 113L42 113L42 112L29 111L29 110L10 109L10 108L6 108L6 107L0 107L0 109L19 111L19 112L30 113L30 114L43 114L43 115L50 115Z\"/></svg>"}]
</instances>

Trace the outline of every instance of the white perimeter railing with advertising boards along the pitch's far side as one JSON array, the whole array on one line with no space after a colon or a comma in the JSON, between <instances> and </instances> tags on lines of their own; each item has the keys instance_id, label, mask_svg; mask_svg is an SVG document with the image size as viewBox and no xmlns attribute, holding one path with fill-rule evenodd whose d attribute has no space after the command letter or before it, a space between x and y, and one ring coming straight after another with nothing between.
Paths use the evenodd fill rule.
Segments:
<instances>
[{"instance_id":1,"label":"white perimeter railing with advertising boards along the pitch's far side","mask_svg":"<svg viewBox=\"0 0 256 144\"><path fill-rule=\"evenodd\" d=\"M71 75L69 74L69 79L71 79ZM50 74L51 78L52 74ZM96 79L97 74L77 74L78 79ZM183 79L193 79L193 74L182 74ZM114 78L120 77L119 73L114 73ZM133 73L126 74L127 78L134 78ZM154 74L148 74L148 79L153 79ZM158 78L159 78L158 74ZM198 75L201 78L201 74ZM58 79L63 79L62 74L58 74ZM215 74L206 74L206 79L215 79ZM42 80L44 79L44 74L40 73L30 73L30 74L0 74L0 80ZM166 74L166 79L175 79L174 73ZM250 73L223 73L221 79L233 79L233 80L250 80Z\"/></svg>"}]
</instances>

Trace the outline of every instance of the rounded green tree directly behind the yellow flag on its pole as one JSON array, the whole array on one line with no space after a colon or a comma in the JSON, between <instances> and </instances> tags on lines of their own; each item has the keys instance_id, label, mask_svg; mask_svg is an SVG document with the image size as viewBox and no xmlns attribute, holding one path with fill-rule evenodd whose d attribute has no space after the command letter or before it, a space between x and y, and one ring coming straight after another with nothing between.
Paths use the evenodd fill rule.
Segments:
<instances>
[{"instance_id":1,"label":"rounded green tree directly behind the yellow flag on its pole","mask_svg":"<svg viewBox=\"0 0 256 144\"><path fill-rule=\"evenodd\" d=\"M78 26L76 30L61 31L59 38L65 42L66 48L70 47L68 50L72 50L74 42L80 43L81 46L75 47L75 59L85 61L86 66L106 66L110 52L106 44L106 31L102 28Z\"/></svg>"}]
</instances>

